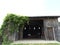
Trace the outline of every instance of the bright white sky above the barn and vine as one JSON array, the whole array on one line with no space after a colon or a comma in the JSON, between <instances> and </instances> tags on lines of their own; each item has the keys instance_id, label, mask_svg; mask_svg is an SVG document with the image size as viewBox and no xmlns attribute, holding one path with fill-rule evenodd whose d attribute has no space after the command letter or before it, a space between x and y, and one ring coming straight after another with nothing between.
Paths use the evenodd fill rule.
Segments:
<instances>
[{"instance_id":1,"label":"bright white sky above the barn and vine","mask_svg":"<svg viewBox=\"0 0 60 45\"><path fill-rule=\"evenodd\" d=\"M60 0L0 0L0 25L7 13L25 16L60 16Z\"/></svg>"}]
</instances>

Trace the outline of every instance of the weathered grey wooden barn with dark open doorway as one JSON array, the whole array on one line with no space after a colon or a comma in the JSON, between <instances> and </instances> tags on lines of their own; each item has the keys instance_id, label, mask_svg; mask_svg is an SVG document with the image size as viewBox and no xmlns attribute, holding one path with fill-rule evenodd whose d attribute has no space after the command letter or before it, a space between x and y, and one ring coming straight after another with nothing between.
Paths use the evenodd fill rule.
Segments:
<instances>
[{"instance_id":1,"label":"weathered grey wooden barn with dark open doorway","mask_svg":"<svg viewBox=\"0 0 60 45\"><path fill-rule=\"evenodd\" d=\"M12 40L58 40L58 17L59 16L36 16L29 17L23 29L15 32Z\"/></svg>"}]
</instances>

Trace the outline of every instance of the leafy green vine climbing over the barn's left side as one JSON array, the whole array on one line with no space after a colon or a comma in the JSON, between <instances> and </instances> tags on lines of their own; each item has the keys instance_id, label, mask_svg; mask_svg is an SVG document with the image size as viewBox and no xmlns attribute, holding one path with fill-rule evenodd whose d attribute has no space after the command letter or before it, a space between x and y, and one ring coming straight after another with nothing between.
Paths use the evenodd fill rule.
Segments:
<instances>
[{"instance_id":1,"label":"leafy green vine climbing over the barn's left side","mask_svg":"<svg viewBox=\"0 0 60 45\"><path fill-rule=\"evenodd\" d=\"M12 35L15 31L18 32L19 27L21 28L27 21L29 21L27 16L8 14L0 29L0 36L3 39L2 43L8 45L7 43L11 41L8 39L8 36Z\"/></svg>"}]
</instances>

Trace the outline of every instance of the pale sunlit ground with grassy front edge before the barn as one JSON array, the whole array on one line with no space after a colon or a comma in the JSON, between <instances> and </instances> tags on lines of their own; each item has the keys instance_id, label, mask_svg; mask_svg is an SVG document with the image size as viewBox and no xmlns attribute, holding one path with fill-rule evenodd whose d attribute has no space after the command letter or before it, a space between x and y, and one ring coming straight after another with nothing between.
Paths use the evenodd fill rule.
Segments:
<instances>
[{"instance_id":1,"label":"pale sunlit ground with grassy front edge before the barn","mask_svg":"<svg viewBox=\"0 0 60 45\"><path fill-rule=\"evenodd\" d=\"M11 45L60 45L60 42L46 40L19 40L11 43Z\"/></svg>"}]
</instances>

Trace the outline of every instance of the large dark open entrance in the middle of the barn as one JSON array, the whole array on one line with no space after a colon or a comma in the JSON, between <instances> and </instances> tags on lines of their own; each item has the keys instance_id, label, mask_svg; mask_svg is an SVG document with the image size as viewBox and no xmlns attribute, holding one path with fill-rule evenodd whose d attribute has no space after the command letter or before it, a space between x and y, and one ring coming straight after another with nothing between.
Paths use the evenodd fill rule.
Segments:
<instances>
[{"instance_id":1,"label":"large dark open entrance in the middle of the barn","mask_svg":"<svg viewBox=\"0 0 60 45\"><path fill-rule=\"evenodd\" d=\"M30 20L23 29L23 39L44 39L43 20Z\"/></svg>"}]
</instances>

